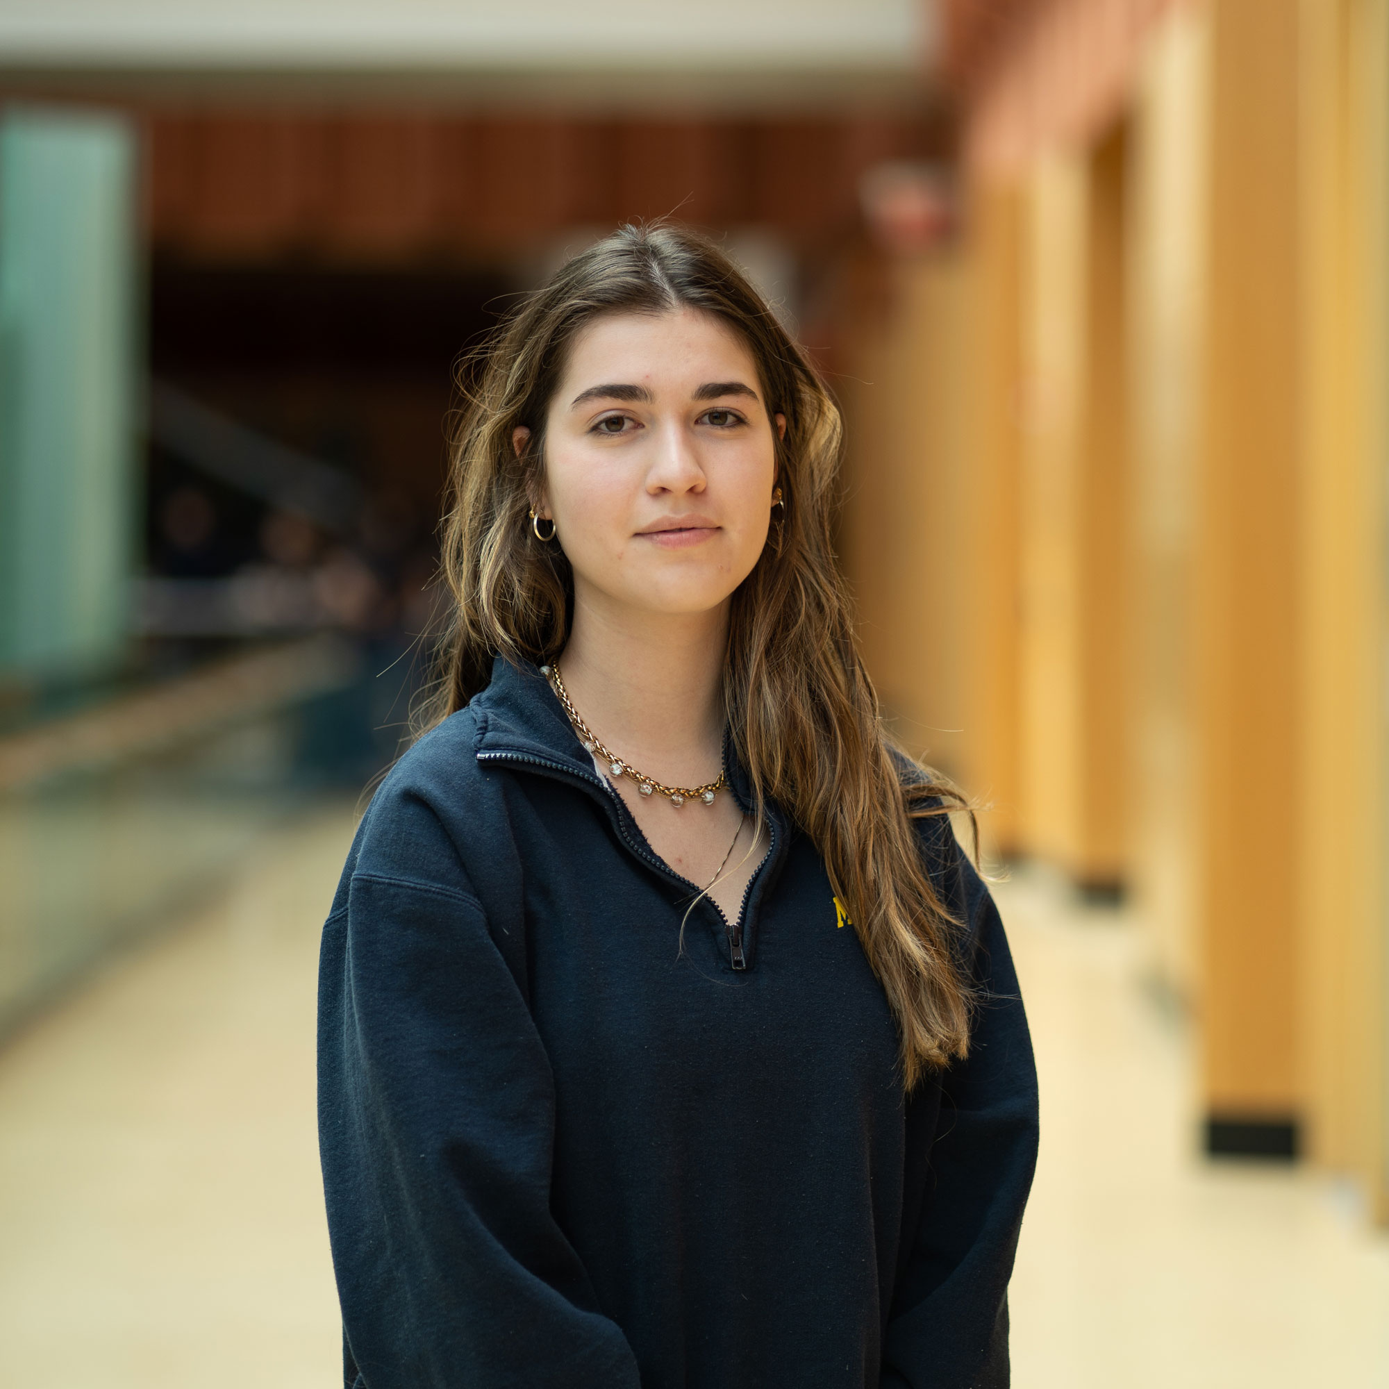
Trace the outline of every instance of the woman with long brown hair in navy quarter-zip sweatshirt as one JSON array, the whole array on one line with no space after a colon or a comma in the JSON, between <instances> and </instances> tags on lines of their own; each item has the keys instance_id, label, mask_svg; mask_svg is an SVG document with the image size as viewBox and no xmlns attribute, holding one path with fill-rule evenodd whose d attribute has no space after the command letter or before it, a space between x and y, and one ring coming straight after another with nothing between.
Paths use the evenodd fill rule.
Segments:
<instances>
[{"instance_id":1,"label":"woman with long brown hair in navy quarter-zip sweatshirt","mask_svg":"<svg viewBox=\"0 0 1389 1389\"><path fill-rule=\"evenodd\" d=\"M347 1385L1007 1383L1032 1051L860 664L839 443L685 231L488 350L435 726L324 932Z\"/></svg>"}]
</instances>

